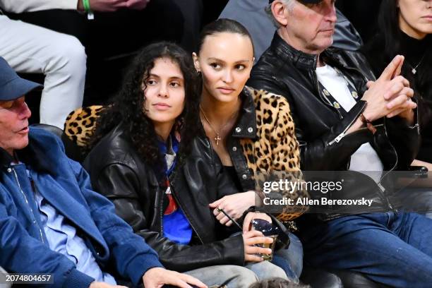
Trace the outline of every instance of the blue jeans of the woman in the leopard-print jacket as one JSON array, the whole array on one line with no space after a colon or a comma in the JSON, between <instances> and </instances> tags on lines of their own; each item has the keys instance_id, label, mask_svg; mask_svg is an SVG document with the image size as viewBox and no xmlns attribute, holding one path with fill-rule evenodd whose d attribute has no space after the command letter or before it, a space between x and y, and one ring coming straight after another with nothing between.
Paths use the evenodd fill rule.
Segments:
<instances>
[{"instance_id":1,"label":"blue jeans of the woman in the leopard-print jacket","mask_svg":"<svg viewBox=\"0 0 432 288\"><path fill-rule=\"evenodd\" d=\"M289 240L288 248L274 253L272 263L282 268L289 280L299 283L303 270L303 246L300 239L292 233L289 234Z\"/></svg>"}]
</instances>

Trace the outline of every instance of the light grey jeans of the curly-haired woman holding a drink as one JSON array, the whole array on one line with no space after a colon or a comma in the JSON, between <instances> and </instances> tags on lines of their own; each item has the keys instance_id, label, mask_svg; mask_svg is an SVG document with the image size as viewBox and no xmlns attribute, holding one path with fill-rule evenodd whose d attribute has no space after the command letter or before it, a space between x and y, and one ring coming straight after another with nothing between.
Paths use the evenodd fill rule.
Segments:
<instances>
[{"instance_id":1,"label":"light grey jeans of the curly-haired woman holding a drink","mask_svg":"<svg viewBox=\"0 0 432 288\"><path fill-rule=\"evenodd\" d=\"M272 277L287 279L284 270L268 261L237 265L215 265L184 272L196 277L208 287L226 284L227 288L246 288L256 281Z\"/></svg>"}]
</instances>

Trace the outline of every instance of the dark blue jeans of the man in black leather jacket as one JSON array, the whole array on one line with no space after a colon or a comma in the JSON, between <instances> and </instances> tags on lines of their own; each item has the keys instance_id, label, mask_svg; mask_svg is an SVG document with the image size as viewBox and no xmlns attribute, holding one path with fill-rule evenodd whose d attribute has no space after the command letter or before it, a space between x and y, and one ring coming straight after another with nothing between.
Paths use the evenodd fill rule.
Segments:
<instances>
[{"instance_id":1,"label":"dark blue jeans of the man in black leather jacket","mask_svg":"<svg viewBox=\"0 0 432 288\"><path fill-rule=\"evenodd\" d=\"M416 213L349 215L301 229L305 262L361 272L390 287L430 287L432 220Z\"/></svg>"}]
</instances>

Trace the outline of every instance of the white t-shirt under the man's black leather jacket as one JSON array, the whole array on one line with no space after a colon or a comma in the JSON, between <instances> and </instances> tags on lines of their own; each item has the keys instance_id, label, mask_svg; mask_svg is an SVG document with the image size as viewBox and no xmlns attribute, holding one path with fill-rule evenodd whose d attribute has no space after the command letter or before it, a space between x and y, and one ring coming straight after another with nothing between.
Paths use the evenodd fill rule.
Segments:
<instances>
[{"instance_id":1,"label":"white t-shirt under the man's black leather jacket","mask_svg":"<svg viewBox=\"0 0 432 288\"><path fill-rule=\"evenodd\" d=\"M316 75L318 76L318 81L323 84L325 89L330 92L332 97L339 102L345 111L349 112L354 107L356 100L354 100L351 92L349 92L347 82L334 68L328 65L318 67L316 68ZM378 157L371 144L364 143L351 156L349 170L368 174L368 176L371 176L378 183L381 173L373 172L383 172L383 162L381 162L380 157Z\"/></svg>"}]
</instances>

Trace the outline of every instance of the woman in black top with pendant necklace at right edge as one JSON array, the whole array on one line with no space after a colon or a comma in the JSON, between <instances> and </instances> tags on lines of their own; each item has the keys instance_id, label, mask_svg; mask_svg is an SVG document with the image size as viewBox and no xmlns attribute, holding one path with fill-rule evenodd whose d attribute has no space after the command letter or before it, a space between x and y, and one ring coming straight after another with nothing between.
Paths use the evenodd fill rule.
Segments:
<instances>
[{"instance_id":1,"label":"woman in black top with pendant necklace at right edge","mask_svg":"<svg viewBox=\"0 0 432 288\"><path fill-rule=\"evenodd\" d=\"M422 145L414 160L432 170L432 0L383 0L378 32L364 53L376 75L397 54L405 56L401 75L420 102Z\"/></svg>"}]
</instances>

